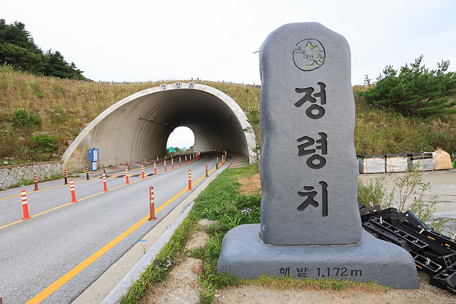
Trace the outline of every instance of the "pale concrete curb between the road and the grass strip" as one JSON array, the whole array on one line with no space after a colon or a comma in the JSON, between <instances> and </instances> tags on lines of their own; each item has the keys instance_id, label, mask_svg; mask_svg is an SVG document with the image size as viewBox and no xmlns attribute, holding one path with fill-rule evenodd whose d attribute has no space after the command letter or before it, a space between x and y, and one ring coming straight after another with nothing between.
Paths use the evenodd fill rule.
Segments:
<instances>
[{"instance_id":1,"label":"pale concrete curb between the road and the grass strip","mask_svg":"<svg viewBox=\"0 0 456 304\"><path fill-rule=\"evenodd\" d=\"M169 227L169 229L160 237L160 239L144 254L144 256L136 263L136 265L128 272L128 274L117 284L117 286L112 289L111 292L104 298L101 304L114 304L117 303L122 295L124 295L128 288L132 285L133 282L138 280L141 272L148 267L148 265L154 261L156 255L160 252L163 246L171 239L171 236L174 234L174 231L182 223L185 217L188 215L188 212L192 210L193 200L208 186L208 184L217 177L218 174L223 172L228 168L233 162L233 157L231 157L230 163L225 163L222 168L219 168L213 174L211 174L203 183L196 188L191 195L185 198L181 204L186 203L187 201L192 201L192 203L185 209L184 212L174 221L174 223Z\"/></svg>"}]
</instances>

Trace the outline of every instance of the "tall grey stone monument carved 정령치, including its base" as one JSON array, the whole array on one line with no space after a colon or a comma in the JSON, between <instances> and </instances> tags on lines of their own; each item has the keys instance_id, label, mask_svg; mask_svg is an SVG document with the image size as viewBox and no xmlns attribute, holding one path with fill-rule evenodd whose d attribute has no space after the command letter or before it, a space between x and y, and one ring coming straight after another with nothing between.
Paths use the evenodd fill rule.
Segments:
<instances>
[{"instance_id":1,"label":"tall grey stone monument carved \uc815\ub839\uce58, including its base","mask_svg":"<svg viewBox=\"0 0 456 304\"><path fill-rule=\"evenodd\" d=\"M261 223L225 235L217 271L419 288L412 256L362 230L345 38L319 23L291 23L259 55Z\"/></svg>"}]
</instances>

